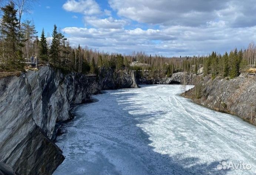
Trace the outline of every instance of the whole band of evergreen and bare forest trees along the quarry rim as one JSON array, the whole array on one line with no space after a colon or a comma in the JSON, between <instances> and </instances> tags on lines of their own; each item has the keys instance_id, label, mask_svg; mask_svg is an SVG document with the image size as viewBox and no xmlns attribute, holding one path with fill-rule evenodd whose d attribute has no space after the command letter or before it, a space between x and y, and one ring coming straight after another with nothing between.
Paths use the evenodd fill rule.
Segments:
<instances>
[{"instance_id":1,"label":"whole band of evergreen and bare forest trees along the quarry rim","mask_svg":"<svg viewBox=\"0 0 256 175\"><path fill-rule=\"evenodd\" d=\"M32 0L17 0L23 3ZM232 50L224 55L212 52L207 56L164 57L147 55L145 52L132 52L126 55L119 53L99 52L87 47L71 46L67 38L53 26L51 39L46 37L44 29L40 38L32 21L21 22L24 7L10 1L1 7L0 23L0 69L22 70L25 58L37 57L40 63L50 63L68 71L97 74L100 67L110 67L114 70L132 69L143 76L144 70L151 71L156 76L172 76L177 71L197 73L204 67L205 75L212 74L224 77L236 77L247 65L255 67L256 47L252 42L247 49ZM22 3L20 3L22 4ZM15 8L18 8L17 10Z\"/></svg>"}]
</instances>

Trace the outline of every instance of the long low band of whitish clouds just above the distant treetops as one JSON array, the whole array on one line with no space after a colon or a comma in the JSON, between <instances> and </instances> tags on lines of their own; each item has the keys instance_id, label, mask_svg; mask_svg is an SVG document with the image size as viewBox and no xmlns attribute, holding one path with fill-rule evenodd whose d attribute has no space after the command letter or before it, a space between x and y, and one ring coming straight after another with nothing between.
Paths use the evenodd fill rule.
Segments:
<instances>
[{"instance_id":1,"label":"long low band of whitish clouds just above the distant treetops","mask_svg":"<svg viewBox=\"0 0 256 175\"><path fill-rule=\"evenodd\" d=\"M214 26L172 26L147 30L71 27L64 28L63 32L69 35L69 41L74 45L80 43L89 48L119 53L142 50L149 54L159 53L165 56L202 55L213 50L224 53L235 46L247 47L251 39L256 37L254 27L223 28L222 31Z\"/></svg>"}]
</instances>

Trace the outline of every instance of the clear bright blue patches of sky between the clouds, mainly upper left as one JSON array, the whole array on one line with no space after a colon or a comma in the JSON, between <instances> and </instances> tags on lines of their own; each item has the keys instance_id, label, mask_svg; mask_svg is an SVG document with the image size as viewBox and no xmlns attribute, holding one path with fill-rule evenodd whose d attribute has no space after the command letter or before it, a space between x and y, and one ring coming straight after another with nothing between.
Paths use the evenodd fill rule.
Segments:
<instances>
[{"instance_id":1,"label":"clear bright blue patches of sky between the clouds, mainly upper left","mask_svg":"<svg viewBox=\"0 0 256 175\"><path fill-rule=\"evenodd\" d=\"M99 4L100 8L103 10L111 11L106 0L96 1ZM56 24L58 28L63 29L66 27L87 27L91 28L90 24L84 22L84 15L81 13L76 13L72 11L66 11L63 8L64 0L39 0L33 4L31 7L31 13L24 14L23 20L33 20L36 26L39 36L42 29L44 28L45 32L51 34L53 30L53 25ZM107 15L101 14L102 18L107 18ZM111 11L111 16L118 19L118 15L114 11ZM136 21L133 21L133 24L137 24ZM140 25L142 28L144 25ZM126 26L126 29L131 28Z\"/></svg>"}]
</instances>

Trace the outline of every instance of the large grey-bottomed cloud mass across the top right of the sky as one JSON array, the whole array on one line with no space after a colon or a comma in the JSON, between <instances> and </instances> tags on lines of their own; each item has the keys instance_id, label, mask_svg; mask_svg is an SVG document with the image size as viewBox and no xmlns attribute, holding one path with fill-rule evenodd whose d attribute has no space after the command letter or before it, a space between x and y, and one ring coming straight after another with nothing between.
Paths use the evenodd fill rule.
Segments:
<instances>
[{"instance_id":1,"label":"large grey-bottomed cloud mass across the top right of the sky","mask_svg":"<svg viewBox=\"0 0 256 175\"><path fill-rule=\"evenodd\" d=\"M120 16L166 26L222 20L232 27L250 27L256 21L254 0L109 0L109 4Z\"/></svg>"}]
</instances>

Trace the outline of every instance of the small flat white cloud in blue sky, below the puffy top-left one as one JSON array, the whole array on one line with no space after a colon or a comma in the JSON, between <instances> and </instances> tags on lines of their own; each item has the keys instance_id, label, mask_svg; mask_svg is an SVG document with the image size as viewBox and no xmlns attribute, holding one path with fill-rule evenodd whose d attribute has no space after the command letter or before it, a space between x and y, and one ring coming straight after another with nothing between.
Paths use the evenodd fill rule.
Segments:
<instances>
[{"instance_id":1,"label":"small flat white cloud in blue sky, below the puffy top-left one","mask_svg":"<svg viewBox=\"0 0 256 175\"><path fill-rule=\"evenodd\" d=\"M112 17L99 19L96 17L84 17L87 24L96 28L123 28L126 24L124 20L115 20Z\"/></svg>"}]
</instances>

